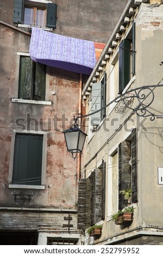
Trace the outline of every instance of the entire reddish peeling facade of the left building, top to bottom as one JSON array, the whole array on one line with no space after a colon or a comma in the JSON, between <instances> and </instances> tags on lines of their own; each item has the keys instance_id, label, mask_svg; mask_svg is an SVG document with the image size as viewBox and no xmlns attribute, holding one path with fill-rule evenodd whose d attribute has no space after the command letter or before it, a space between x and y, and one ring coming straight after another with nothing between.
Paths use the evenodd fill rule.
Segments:
<instances>
[{"instance_id":1,"label":"entire reddish peeling facade of the left building, top to bottom","mask_svg":"<svg viewBox=\"0 0 163 256\"><path fill-rule=\"evenodd\" d=\"M51 2L57 4L55 33L105 43L127 1L119 1L121 8L112 1L107 6L106 1ZM76 208L80 160L74 161L67 153L62 131L72 124L74 115L84 113L80 99L88 77L47 66L44 102L18 101L19 59L29 56L30 31L12 22L13 4L9 0L0 3L1 242L47 245L48 237L61 237L81 244ZM40 187L12 184L15 135L19 132L43 136Z\"/></svg>"}]
</instances>

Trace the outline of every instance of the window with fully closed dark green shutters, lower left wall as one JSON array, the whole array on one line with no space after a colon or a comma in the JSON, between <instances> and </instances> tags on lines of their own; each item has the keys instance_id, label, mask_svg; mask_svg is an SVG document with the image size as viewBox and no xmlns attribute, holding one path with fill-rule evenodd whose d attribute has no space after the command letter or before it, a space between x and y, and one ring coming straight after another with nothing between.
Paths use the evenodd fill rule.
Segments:
<instances>
[{"instance_id":1,"label":"window with fully closed dark green shutters, lower left wall","mask_svg":"<svg viewBox=\"0 0 163 256\"><path fill-rule=\"evenodd\" d=\"M12 184L41 185L43 135L15 136Z\"/></svg>"}]
</instances>

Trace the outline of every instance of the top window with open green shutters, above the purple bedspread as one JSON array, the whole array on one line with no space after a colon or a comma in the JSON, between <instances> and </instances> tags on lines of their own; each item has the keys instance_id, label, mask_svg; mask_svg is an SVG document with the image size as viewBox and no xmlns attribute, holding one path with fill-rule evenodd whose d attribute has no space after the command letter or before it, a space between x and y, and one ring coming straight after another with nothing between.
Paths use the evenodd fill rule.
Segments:
<instances>
[{"instance_id":1,"label":"top window with open green shutters, above the purple bedspread","mask_svg":"<svg viewBox=\"0 0 163 256\"><path fill-rule=\"evenodd\" d=\"M28 26L56 28L57 5L54 3L14 0L13 22Z\"/></svg>"}]
</instances>

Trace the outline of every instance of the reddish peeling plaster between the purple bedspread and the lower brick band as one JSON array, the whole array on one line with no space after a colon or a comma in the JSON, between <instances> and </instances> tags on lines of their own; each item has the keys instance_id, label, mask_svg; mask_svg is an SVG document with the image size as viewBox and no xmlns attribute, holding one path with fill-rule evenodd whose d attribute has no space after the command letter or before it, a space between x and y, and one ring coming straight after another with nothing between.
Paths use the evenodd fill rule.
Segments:
<instances>
[{"instance_id":1,"label":"reddish peeling plaster between the purple bedspread and the lower brick band","mask_svg":"<svg viewBox=\"0 0 163 256\"><path fill-rule=\"evenodd\" d=\"M48 68L47 88L51 106L11 102L15 94L17 52L29 51L30 36L0 26L1 51L1 207L28 206L75 208L76 164L66 151L62 131L69 127L70 119L79 107L79 74ZM3 65L4 64L4 65ZM52 95L55 91L56 95ZM72 99L72 100L70 100ZM29 118L27 118L29 115ZM65 115L67 121L62 116ZM23 126L18 126L17 118L23 118ZM28 119L28 124L27 124ZM58 120L60 119L60 121ZM32 121L35 120L35 121ZM29 126L28 126L29 125ZM8 188L11 137L14 129L48 131L47 172L45 190L20 190ZM32 194L31 202L14 200L14 194Z\"/></svg>"}]
</instances>

